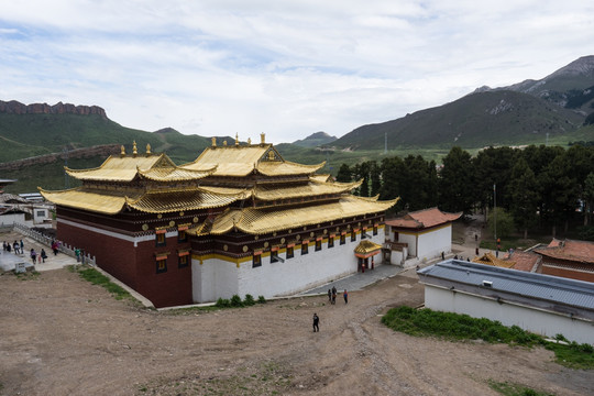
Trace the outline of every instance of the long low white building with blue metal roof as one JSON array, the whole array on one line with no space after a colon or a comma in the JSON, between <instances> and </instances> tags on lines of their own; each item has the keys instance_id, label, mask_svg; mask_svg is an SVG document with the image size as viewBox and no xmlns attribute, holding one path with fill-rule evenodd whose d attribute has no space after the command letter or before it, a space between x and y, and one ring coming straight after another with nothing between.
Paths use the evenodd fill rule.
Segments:
<instances>
[{"instance_id":1,"label":"long low white building with blue metal roof","mask_svg":"<svg viewBox=\"0 0 594 396\"><path fill-rule=\"evenodd\" d=\"M417 271L427 308L594 344L594 284L448 260Z\"/></svg>"}]
</instances>

